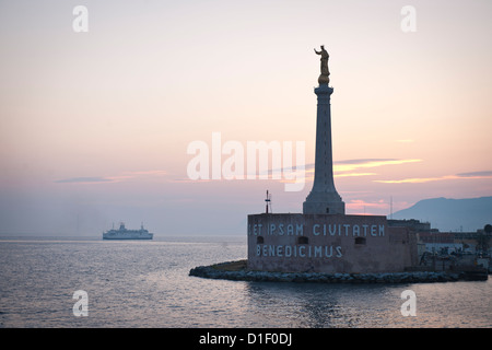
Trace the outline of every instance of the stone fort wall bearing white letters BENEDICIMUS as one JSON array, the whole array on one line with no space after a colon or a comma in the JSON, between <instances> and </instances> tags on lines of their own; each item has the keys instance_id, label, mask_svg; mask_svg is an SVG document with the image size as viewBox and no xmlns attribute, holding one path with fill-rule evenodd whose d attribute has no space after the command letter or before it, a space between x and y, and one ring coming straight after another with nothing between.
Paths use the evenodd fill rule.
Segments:
<instances>
[{"instance_id":1,"label":"stone fort wall bearing white letters BENEDICIMUS","mask_svg":"<svg viewBox=\"0 0 492 350\"><path fill-rule=\"evenodd\" d=\"M283 272L400 272L418 264L417 236L386 217L248 215L248 269Z\"/></svg>"}]
</instances>

